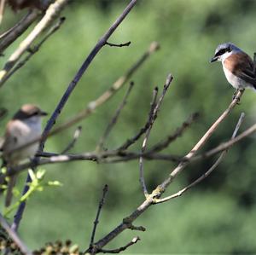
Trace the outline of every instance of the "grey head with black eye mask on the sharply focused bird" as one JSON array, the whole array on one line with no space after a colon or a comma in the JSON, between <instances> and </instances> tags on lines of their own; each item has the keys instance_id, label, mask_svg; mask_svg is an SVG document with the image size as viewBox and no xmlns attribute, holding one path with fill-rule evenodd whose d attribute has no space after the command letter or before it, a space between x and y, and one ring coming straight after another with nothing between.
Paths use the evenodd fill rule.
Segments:
<instances>
[{"instance_id":1,"label":"grey head with black eye mask on the sharply focused bird","mask_svg":"<svg viewBox=\"0 0 256 255\"><path fill-rule=\"evenodd\" d=\"M214 61L224 61L228 56L233 53L241 52L241 49L236 47L233 43L221 43L215 49L215 54L211 59L211 62Z\"/></svg>"}]
</instances>

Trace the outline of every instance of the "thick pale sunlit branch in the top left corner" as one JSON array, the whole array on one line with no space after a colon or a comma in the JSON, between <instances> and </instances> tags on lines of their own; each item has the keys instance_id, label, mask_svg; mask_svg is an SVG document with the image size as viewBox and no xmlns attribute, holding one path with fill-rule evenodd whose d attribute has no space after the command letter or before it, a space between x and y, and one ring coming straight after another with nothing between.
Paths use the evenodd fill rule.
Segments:
<instances>
[{"instance_id":1,"label":"thick pale sunlit branch in the top left corner","mask_svg":"<svg viewBox=\"0 0 256 255\"><path fill-rule=\"evenodd\" d=\"M26 49L29 49L30 45L36 38L48 27L52 20L60 14L61 9L67 4L68 0L56 0L55 3L49 5L42 20L38 22L38 25L32 30L32 32L20 43L18 49L9 57L9 60L4 65L3 70L0 71L0 87L3 86L3 81L15 63L19 61L21 55L24 54Z\"/></svg>"}]
</instances>

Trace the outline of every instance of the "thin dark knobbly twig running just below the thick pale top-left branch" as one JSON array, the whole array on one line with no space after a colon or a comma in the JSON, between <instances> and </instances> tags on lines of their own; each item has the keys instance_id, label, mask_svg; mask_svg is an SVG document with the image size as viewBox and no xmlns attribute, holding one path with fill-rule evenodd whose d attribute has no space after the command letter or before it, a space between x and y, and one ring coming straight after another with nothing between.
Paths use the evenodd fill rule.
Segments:
<instances>
[{"instance_id":1,"label":"thin dark knobbly twig running just below the thick pale top-left branch","mask_svg":"<svg viewBox=\"0 0 256 255\"><path fill-rule=\"evenodd\" d=\"M32 58L32 55L35 55L38 50L42 47L42 45L45 43L45 41L51 36L53 35L63 24L63 22L65 21L65 18L60 18L57 23L52 26L49 31L45 34L44 38L35 46L33 46L31 49L27 49L28 54L26 55L26 57L24 57L24 59L20 60L13 69L10 70L10 72L8 72L5 77L2 80L2 84L5 83L15 72L17 72L21 67L23 67L27 61L29 61Z\"/></svg>"}]
</instances>

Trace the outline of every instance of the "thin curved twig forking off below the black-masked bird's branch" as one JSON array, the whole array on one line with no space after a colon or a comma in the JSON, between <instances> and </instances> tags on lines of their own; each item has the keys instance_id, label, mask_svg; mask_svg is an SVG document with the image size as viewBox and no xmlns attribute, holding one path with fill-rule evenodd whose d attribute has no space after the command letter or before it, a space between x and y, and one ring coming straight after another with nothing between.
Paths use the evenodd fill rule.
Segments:
<instances>
[{"instance_id":1,"label":"thin curved twig forking off below the black-masked bird's branch","mask_svg":"<svg viewBox=\"0 0 256 255\"><path fill-rule=\"evenodd\" d=\"M233 135L231 136L231 139L234 139L236 137L236 134L238 132L238 130L241 127L241 124L243 122L243 119L245 117L245 113L241 113L241 116L236 124L236 128L233 132ZM212 171L214 171L217 166L221 163L221 161L224 159L224 156L228 153L228 148L226 150L224 150L222 152L222 154L220 154L220 156L218 157L218 159L215 161L215 163L203 174L201 175L201 177L197 178L193 183L190 183L188 186L186 186L185 188L182 188L181 190L179 190L177 193L172 194L170 196L167 196L166 198L160 199L160 200L154 200L155 204L160 204L160 203L164 203L166 201L172 200L174 198L177 198L181 195L183 195L186 191L189 190L189 188L193 188L195 185L197 185L198 183L201 183L205 178L207 178Z\"/></svg>"}]
</instances>

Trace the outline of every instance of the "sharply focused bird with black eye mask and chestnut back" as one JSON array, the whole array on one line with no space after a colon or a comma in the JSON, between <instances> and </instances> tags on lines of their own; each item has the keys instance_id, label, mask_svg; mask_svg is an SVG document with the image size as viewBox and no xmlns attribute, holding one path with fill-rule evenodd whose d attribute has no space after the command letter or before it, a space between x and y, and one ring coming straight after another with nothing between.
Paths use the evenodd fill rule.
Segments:
<instances>
[{"instance_id":1,"label":"sharply focused bird with black eye mask and chestnut back","mask_svg":"<svg viewBox=\"0 0 256 255\"><path fill-rule=\"evenodd\" d=\"M219 44L211 62L221 61L228 82L236 88L243 90L252 88L256 90L256 67L252 58L233 43Z\"/></svg>"}]
</instances>

